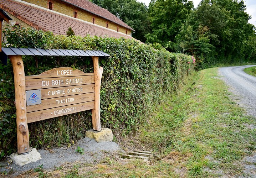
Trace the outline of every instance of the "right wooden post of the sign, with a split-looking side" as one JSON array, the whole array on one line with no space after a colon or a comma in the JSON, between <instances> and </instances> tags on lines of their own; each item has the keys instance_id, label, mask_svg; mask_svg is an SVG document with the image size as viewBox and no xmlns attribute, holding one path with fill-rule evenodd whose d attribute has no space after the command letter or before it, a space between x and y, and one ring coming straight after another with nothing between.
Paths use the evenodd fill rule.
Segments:
<instances>
[{"instance_id":1,"label":"right wooden post of the sign, with a split-looking side","mask_svg":"<svg viewBox=\"0 0 256 178\"><path fill-rule=\"evenodd\" d=\"M101 120L99 115L99 99L101 91L101 78L103 68L99 67L99 57L92 56L94 68L94 82L95 82L95 100L94 109L92 109L92 127L93 130L101 131Z\"/></svg>"}]
</instances>

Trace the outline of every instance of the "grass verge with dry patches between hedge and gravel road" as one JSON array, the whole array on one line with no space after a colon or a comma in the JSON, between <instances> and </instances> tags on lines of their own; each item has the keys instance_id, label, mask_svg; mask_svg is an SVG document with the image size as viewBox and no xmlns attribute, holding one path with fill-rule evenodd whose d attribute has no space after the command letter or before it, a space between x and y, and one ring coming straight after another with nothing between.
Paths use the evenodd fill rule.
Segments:
<instances>
[{"instance_id":1,"label":"grass verge with dry patches between hedge and gravel road","mask_svg":"<svg viewBox=\"0 0 256 178\"><path fill-rule=\"evenodd\" d=\"M256 151L256 132L251 129L256 122L230 95L217 68L201 70L187 78L176 95L156 106L148 123L139 126L137 133L119 138L124 149L153 150L148 162L112 155L97 163L75 163L44 175L246 177L242 159Z\"/></svg>"}]
</instances>

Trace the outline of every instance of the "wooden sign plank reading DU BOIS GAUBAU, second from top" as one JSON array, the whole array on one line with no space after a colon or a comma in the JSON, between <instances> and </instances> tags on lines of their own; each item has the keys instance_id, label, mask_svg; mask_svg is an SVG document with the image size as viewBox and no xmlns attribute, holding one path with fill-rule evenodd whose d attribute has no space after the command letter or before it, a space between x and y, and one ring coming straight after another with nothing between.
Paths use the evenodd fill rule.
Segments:
<instances>
[{"instance_id":1,"label":"wooden sign plank reading DU BOIS GAUBAU, second from top","mask_svg":"<svg viewBox=\"0 0 256 178\"><path fill-rule=\"evenodd\" d=\"M26 90L36 90L44 88L67 87L82 84L94 83L94 76L77 76L77 77L55 77L55 78L38 78L26 79Z\"/></svg>"}]
</instances>

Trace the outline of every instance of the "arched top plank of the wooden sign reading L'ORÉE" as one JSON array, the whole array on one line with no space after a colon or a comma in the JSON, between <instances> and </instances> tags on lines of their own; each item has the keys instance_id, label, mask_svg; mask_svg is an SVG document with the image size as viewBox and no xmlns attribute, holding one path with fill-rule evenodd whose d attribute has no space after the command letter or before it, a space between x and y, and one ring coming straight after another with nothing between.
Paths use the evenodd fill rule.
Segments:
<instances>
[{"instance_id":1,"label":"arched top plank of the wooden sign reading L'OR\u00c9E","mask_svg":"<svg viewBox=\"0 0 256 178\"><path fill-rule=\"evenodd\" d=\"M84 73L81 70L71 67L60 67L47 70L39 75L29 75L25 76L26 79L36 79L36 78L51 78L51 77L75 77L75 76L84 76L84 75L93 75L93 73Z\"/></svg>"}]
</instances>

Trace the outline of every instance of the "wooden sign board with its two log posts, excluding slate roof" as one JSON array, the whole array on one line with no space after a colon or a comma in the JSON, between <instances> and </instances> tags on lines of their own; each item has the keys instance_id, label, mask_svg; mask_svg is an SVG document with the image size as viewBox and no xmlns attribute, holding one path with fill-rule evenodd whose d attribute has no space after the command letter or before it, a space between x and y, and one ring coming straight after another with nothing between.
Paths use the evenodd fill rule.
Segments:
<instances>
[{"instance_id":1,"label":"wooden sign board with its two log posts, excluding slate roof","mask_svg":"<svg viewBox=\"0 0 256 178\"><path fill-rule=\"evenodd\" d=\"M92 56L93 73L62 67L33 76L25 76L21 56L9 58L15 82L18 153L29 151L30 122L92 110L93 129L101 131L99 99L103 68L99 67L98 57Z\"/></svg>"}]
</instances>

